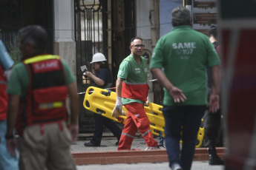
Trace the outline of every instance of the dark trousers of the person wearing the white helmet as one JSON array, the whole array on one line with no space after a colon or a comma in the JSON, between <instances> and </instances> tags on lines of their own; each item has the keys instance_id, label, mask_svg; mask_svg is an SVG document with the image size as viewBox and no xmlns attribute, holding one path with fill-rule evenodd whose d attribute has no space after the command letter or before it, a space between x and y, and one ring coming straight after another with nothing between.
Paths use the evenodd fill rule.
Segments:
<instances>
[{"instance_id":1,"label":"dark trousers of the person wearing the white helmet","mask_svg":"<svg viewBox=\"0 0 256 170\"><path fill-rule=\"evenodd\" d=\"M108 129L113 133L113 135L117 137L117 140L120 139L122 130L119 128L119 126L116 125L116 123L114 123L114 121L98 114L93 115L95 120L95 130L93 133L93 139L91 140L91 143L93 143L93 145L100 145L104 125L107 126Z\"/></svg>"}]
</instances>

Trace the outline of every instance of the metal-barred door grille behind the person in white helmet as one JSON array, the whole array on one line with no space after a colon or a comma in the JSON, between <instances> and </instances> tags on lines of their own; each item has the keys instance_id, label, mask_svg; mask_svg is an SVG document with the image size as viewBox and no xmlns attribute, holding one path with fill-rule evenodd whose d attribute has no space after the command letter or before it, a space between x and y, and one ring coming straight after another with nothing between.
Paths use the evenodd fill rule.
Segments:
<instances>
[{"instance_id":1,"label":"metal-barred door grille behind the person in white helmet","mask_svg":"<svg viewBox=\"0 0 256 170\"><path fill-rule=\"evenodd\" d=\"M86 65L92 72L90 64L95 52L102 52L102 1L76 0L76 77L79 92L85 92L90 86L88 78L82 78L80 67Z\"/></svg>"}]
</instances>

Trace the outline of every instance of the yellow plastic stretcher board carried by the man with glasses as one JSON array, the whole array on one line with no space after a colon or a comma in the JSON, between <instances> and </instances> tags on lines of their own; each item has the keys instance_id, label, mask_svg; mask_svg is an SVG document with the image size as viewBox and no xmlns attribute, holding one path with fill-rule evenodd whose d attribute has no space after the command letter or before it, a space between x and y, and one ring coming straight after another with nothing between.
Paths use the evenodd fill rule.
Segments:
<instances>
[{"instance_id":1,"label":"yellow plastic stretcher board carried by the man with glasses","mask_svg":"<svg viewBox=\"0 0 256 170\"><path fill-rule=\"evenodd\" d=\"M112 117L112 111L116 105L116 92L111 92L107 89L99 89L95 86L90 86L86 90L85 99L83 106L85 109L95 112L99 115L105 116L111 120L117 121L119 123L125 124L126 117L120 115L118 118ZM145 113L148 115L148 120L150 122L150 129L153 135L160 137L160 143L163 144L164 127L165 120L162 113L163 106L157 105L155 103L148 103L144 106ZM122 109L127 112L125 106ZM197 134L197 146L200 147L203 141L204 130L200 127Z\"/></svg>"}]
</instances>

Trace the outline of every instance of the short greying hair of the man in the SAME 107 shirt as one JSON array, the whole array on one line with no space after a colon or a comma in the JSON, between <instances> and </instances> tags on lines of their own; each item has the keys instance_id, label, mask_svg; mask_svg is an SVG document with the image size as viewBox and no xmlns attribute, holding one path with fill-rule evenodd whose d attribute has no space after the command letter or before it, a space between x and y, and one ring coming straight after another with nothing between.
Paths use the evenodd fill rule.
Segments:
<instances>
[{"instance_id":1,"label":"short greying hair of the man in the SAME 107 shirt","mask_svg":"<svg viewBox=\"0 0 256 170\"><path fill-rule=\"evenodd\" d=\"M176 7L171 11L171 24L174 27L191 24L191 13L186 7Z\"/></svg>"}]
</instances>

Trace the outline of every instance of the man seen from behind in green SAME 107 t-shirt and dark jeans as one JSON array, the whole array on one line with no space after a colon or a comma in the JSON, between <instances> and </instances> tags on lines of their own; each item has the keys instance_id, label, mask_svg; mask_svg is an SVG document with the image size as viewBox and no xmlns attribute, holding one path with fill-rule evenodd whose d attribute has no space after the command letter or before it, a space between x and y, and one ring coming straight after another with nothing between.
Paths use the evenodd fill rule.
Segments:
<instances>
[{"instance_id":1,"label":"man seen from behind in green SAME 107 t-shirt and dark jeans","mask_svg":"<svg viewBox=\"0 0 256 170\"><path fill-rule=\"evenodd\" d=\"M157 41L150 68L164 87L162 111L169 166L185 170L191 169L200 120L206 110L207 67L213 75L209 109L216 112L219 108L220 60L209 38L190 26L186 7L175 8L171 16L174 29Z\"/></svg>"}]
</instances>

